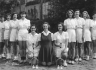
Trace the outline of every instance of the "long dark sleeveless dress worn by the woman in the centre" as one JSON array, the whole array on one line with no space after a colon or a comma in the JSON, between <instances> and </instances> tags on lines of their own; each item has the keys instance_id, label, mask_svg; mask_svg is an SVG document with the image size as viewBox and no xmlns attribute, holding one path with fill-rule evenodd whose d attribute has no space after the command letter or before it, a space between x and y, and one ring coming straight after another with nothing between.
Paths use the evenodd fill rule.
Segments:
<instances>
[{"instance_id":1,"label":"long dark sleeveless dress worn by the woman in the centre","mask_svg":"<svg viewBox=\"0 0 96 70\"><path fill-rule=\"evenodd\" d=\"M39 52L39 61L47 63L53 63L55 60L54 56L54 48L52 46L52 38L51 33L49 33L47 36L45 36L43 33L41 33L41 48Z\"/></svg>"}]
</instances>

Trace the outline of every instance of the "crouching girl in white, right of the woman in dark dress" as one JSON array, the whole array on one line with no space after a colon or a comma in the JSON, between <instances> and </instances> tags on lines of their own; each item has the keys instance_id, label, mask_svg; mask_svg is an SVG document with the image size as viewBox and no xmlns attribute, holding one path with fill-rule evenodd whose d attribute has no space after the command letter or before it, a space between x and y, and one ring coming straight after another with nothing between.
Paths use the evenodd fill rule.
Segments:
<instances>
[{"instance_id":1,"label":"crouching girl in white, right of the woman in dark dress","mask_svg":"<svg viewBox=\"0 0 96 70\"><path fill-rule=\"evenodd\" d=\"M55 44L55 53L56 57L62 58L64 60L63 65L67 66L67 53L68 53L68 40L69 36L67 32L63 31L63 24L58 24L58 32L54 33L54 44ZM61 64L62 65L62 64Z\"/></svg>"}]
</instances>

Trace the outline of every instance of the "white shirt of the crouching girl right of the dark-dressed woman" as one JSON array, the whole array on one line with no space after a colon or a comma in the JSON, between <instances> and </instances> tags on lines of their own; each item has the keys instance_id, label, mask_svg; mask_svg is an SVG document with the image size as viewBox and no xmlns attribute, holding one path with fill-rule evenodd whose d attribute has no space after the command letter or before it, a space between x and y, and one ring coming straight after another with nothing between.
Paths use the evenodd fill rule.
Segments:
<instances>
[{"instance_id":1,"label":"white shirt of the crouching girl right of the dark-dressed woman","mask_svg":"<svg viewBox=\"0 0 96 70\"><path fill-rule=\"evenodd\" d=\"M54 33L53 40L56 41L58 44L65 43L65 39L69 39L67 32L63 31L62 34L60 34L59 32Z\"/></svg>"}]
</instances>

